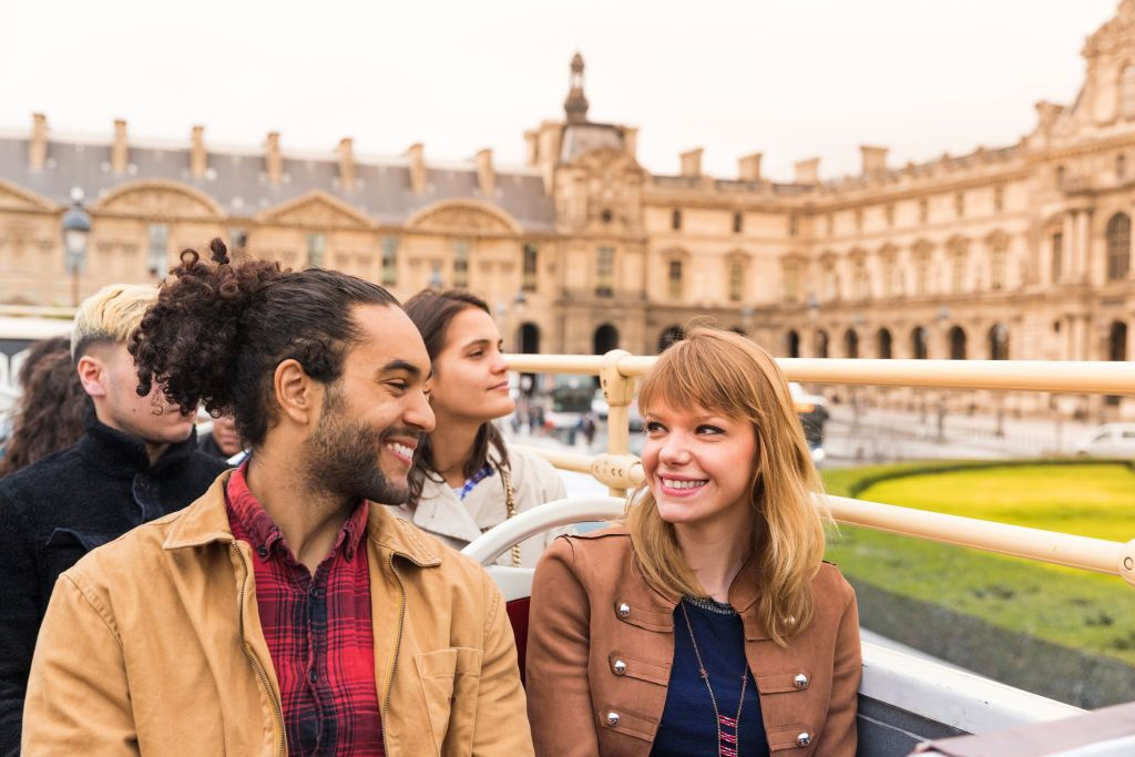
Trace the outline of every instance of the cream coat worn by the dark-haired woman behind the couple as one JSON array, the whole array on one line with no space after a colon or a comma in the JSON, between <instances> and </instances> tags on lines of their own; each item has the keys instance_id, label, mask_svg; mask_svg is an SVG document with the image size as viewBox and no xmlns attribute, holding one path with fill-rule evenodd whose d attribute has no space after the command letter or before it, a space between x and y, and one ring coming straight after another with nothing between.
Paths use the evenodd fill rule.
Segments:
<instances>
[{"instance_id":1,"label":"cream coat worn by the dark-haired woman behind the couple","mask_svg":"<svg viewBox=\"0 0 1135 757\"><path fill-rule=\"evenodd\" d=\"M490 456L490 461L496 465L495 456ZM560 473L543 457L510 448L508 462L518 513L566 496ZM398 507L398 514L443 544L462 549L488 529L504 522L507 515L504 485L501 476L494 473L474 486L464 499L459 499L448 483L428 477L422 483L418 506L411 508L403 505ZM521 563L535 567L544 548L564 532L565 529L558 529L522 541ZM511 553L503 554L497 563L511 565Z\"/></svg>"}]
</instances>

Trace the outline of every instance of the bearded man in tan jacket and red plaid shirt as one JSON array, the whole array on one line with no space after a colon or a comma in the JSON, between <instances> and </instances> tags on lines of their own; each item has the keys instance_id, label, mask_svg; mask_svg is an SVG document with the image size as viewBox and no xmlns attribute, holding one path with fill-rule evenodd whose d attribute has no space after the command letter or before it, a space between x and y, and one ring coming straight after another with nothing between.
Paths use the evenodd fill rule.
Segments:
<instances>
[{"instance_id":1,"label":"bearded man in tan jacket and red plaid shirt","mask_svg":"<svg viewBox=\"0 0 1135 757\"><path fill-rule=\"evenodd\" d=\"M60 577L25 748L532 754L499 590L382 506L434 428L418 329L375 284L210 246L135 333L138 393L230 414L251 456Z\"/></svg>"}]
</instances>

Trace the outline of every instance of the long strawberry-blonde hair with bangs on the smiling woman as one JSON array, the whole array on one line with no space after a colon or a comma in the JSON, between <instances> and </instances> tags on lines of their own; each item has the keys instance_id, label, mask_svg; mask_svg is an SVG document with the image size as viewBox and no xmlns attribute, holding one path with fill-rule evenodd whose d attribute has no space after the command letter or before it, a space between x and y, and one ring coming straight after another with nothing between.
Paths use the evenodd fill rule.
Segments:
<instances>
[{"instance_id":1,"label":"long strawberry-blonde hair with bangs on the smiling woman","mask_svg":"<svg viewBox=\"0 0 1135 757\"><path fill-rule=\"evenodd\" d=\"M750 493L756 516L753 556L743 570L757 571L760 623L771 639L784 645L812 621L810 582L824 556L825 519L813 501L821 490L819 477L780 367L738 334L696 328L658 358L638 401L644 414L665 403L753 424L757 465ZM672 595L707 596L646 483L629 501L627 524L647 580Z\"/></svg>"}]
</instances>

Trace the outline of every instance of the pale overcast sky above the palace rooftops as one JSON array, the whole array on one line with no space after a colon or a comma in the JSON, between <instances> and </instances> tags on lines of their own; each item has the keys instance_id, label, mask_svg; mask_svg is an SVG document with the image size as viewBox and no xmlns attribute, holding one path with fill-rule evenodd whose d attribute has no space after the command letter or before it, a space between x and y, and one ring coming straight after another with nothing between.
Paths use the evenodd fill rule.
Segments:
<instances>
[{"instance_id":1,"label":"pale overcast sky above the palace rooftops","mask_svg":"<svg viewBox=\"0 0 1135 757\"><path fill-rule=\"evenodd\" d=\"M858 145L930 160L1032 129L1070 103L1084 37L1118 0L468 0L6 2L0 128L359 153L426 144L427 161L491 148L520 163L524 129L561 119L568 65L587 61L594 120L634 125L639 160L737 175L765 153L788 180L819 155L856 173Z\"/></svg>"}]
</instances>

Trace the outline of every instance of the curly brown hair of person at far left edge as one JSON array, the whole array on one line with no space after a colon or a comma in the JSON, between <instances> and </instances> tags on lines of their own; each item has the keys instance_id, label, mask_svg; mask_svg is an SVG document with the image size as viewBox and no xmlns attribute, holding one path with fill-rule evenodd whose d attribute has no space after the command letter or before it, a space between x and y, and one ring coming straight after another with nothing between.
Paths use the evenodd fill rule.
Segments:
<instances>
[{"instance_id":1,"label":"curly brown hair of person at far left edge","mask_svg":"<svg viewBox=\"0 0 1135 757\"><path fill-rule=\"evenodd\" d=\"M0 476L15 473L78 441L85 429L85 415L92 407L72 362L67 338L43 339L32 345L18 381L24 393L0 459Z\"/></svg>"}]
</instances>

